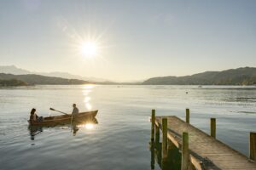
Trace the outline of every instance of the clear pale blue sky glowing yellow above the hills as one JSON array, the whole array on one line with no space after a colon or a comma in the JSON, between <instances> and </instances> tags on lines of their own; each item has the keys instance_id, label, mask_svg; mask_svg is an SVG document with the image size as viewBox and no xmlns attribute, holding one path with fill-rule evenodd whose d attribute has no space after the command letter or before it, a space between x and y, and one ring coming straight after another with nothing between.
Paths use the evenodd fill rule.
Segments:
<instances>
[{"instance_id":1,"label":"clear pale blue sky glowing yellow above the hills","mask_svg":"<svg viewBox=\"0 0 256 170\"><path fill-rule=\"evenodd\" d=\"M0 65L126 82L256 66L254 0L0 1ZM96 44L96 54L81 44Z\"/></svg>"}]
</instances>

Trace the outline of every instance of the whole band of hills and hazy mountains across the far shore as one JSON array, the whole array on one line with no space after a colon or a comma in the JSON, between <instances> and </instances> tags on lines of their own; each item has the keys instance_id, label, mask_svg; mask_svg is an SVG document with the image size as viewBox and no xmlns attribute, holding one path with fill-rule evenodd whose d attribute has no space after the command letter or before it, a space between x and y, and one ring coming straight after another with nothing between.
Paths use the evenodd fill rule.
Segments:
<instances>
[{"instance_id":1,"label":"whole band of hills and hazy mountains across the far shore","mask_svg":"<svg viewBox=\"0 0 256 170\"><path fill-rule=\"evenodd\" d=\"M89 81L88 81L89 80ZM32 74L31 71L15 65L0 66L0 82L4 85L26 84L137 84L137 85L256 85L256 68L241 67L226 71L206 71L184 77L153 77L143 82L91 81L90 78L75 76L66 72ZM1 85L1 83L0 83Z\"/></svg>"}]
</instances>

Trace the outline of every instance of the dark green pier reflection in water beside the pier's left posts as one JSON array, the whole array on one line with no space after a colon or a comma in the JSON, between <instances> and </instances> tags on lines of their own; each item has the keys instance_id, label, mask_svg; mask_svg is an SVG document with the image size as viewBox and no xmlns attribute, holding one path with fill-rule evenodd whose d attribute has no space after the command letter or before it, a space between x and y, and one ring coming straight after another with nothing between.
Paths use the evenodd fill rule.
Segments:
<instances>
[{"instance_id":1,"label":"dark green pier reflection in water beside the pier's left posts","mask_svg":"<svg viewBox=\"0 0 256 170\"><path fill-rule=\"evenodd\" d=\"M162 143L150 142L149 148L151 151L151 169L154 169L155 161L162 170L181 169L181 154L174 144L168 144L166 158L162 158Z\"/></svg>"}]
</instances>

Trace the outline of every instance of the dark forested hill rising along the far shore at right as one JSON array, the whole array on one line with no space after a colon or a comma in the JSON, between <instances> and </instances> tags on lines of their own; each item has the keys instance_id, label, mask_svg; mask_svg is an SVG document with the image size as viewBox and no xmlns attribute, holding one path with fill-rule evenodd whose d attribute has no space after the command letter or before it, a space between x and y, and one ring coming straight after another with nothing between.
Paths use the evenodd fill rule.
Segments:
<instances>
[{"instance_id":1,"label":"dark forested hill rising along the far shore at right","mask_svg":"<svg viewBox=\"0 0 256 170\"><path fill-rule=\"evenodd\" d=\"M152 85L255 85L256 68L243 67L227 71L206 71L185 77L154 77L143 84Z\"/></svg>"}]
</instances>

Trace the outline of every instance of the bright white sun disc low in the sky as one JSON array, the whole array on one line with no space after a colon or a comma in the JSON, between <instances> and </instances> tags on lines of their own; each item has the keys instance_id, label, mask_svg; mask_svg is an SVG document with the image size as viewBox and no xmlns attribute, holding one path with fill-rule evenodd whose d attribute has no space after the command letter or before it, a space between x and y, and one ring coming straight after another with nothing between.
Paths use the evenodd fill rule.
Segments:
<instances>
[{"instance_id":1,"label":"bright white sun disc low in the sky","mask_svg":"<svg viewBox=\"0 0 256 170\"><path fill-rule=\"evenodd\" d=\"M87 57L94 57L97 54L96 42L83 42L80 47L81 54Z\"/></svg>"}]
</instances>

